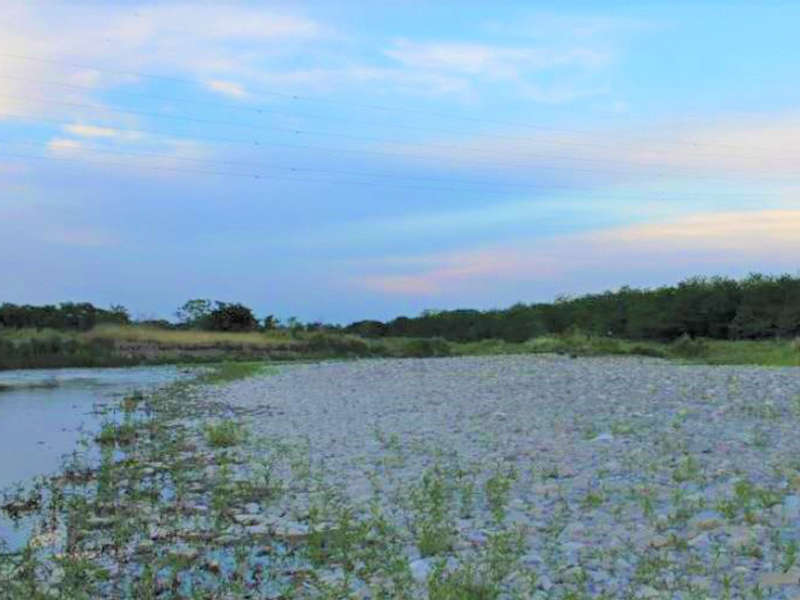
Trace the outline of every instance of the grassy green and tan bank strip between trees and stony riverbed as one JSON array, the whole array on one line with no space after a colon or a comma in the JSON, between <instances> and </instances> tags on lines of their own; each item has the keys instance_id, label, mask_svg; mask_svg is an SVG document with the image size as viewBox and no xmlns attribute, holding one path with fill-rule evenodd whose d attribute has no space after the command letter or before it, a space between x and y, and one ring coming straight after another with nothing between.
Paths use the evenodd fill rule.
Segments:
<instances>
[{"instance_id":1,"label":"grassy green and tan bank strip between trees and stony riverbed","mask_svg":"<svg viewBox=\"0 0 800 600\"><path fill-rule=\"evenodd\" d=\"M800 341L680 338L657 343L573 333L526 342L487 339L458 343L441 338L361 338L286 330L223 333L134 326L103 326L85 333L0 330L0 370L518 354L649 356L696 364L800 366Z\"/></svg>"}]
</instances>

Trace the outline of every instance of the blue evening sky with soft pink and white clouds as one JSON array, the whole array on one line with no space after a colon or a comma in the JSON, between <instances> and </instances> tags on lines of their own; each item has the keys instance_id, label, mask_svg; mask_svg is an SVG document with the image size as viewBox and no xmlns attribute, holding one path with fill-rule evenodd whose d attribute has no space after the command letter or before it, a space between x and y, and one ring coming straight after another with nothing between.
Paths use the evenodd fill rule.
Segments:
<instances>
[{"instance_id":1,"label":"blue evening sky with soft pink and white clouds","mask_svg":"<svg viewBox=\"0 0 800 600\"><path fill-rule=\"evenodd\" d=\"M0 0L0 302L346 323L797 274L798 22Z\"/></svg>"}]
</instances>

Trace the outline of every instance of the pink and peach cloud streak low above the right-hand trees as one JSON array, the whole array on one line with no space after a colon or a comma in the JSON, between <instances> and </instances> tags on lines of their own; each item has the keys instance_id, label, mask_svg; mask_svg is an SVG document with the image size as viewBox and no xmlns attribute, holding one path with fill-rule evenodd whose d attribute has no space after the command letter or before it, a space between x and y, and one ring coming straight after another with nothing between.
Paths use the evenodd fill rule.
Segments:
<instances>
[{"instance_id":1,"label":"pink and peach cloud streak low above the right-hand trees","mask_svg":"<svg viewBox=\"0 0 800 600\"><path fill-rule=\"evenodd\" d=\"M685 265L687 260L698 271L737 263L792 269L796 268L793 257L798 255L800 210L748 211L399 257L385 261L389 273L362 276L358 281L364 288L389 295L436 296L478 289L489 282L574 282L599 272L613 279L643 269L663 271L670 264Z\"/></svg>"}]
</instances>

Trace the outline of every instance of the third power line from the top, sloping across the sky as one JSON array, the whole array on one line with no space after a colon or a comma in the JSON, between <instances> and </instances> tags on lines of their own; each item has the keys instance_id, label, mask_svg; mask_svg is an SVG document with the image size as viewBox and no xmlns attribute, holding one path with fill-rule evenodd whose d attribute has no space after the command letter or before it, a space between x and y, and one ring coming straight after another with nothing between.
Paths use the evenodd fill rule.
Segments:
<instances>
[{"instance_id":1,"label":"third power line from the top, sloping across the sky","mask_svg":"<svg viewBox=\"0 0 800 600\"><path fill-rule=\"evenodd\" d=\"M436 148L444 148L448 150L467 150L467 151L478 151L482 152L482 150L478 148L472 148L467 146L457 146L451 144L434 144L434 143L415 143L415 142L405 142L405 141L398 141L398 140L385 140L380 138L373 138L368 136L354 136L349 134L341 134L341 133L331 133L331 132L317 132L317 131L310 131L304 129L296 129L296 128L287 128L287 127L275 127L270 125L253 125L248 123L240 123L236 121L225 121L225 120L218 120L218 119L206 119L202 117L190 117L186 115L170 115L170 114L161 114L161 113L153 113L148 111L141 111L141 110L133 110L133 109L122 109L122 108L112 108L106 107L97 104L86 104L81 102L68 102L62 100L50 100L50 99L42 99L42 98L32 98L26 96L16 96L12 94L0 94L0 98L10 98L13 100L22 100L26 102L38 102L43 104L55 104L60 106L70 106L75 108L85 108L89 110L95 110L100 112L111 112L111 113L119 113L119 114L130 114L136 116L143 116L143 117L150 117L150 118L157 118L157 119L167 119L167 120L177 120L183 121L188 123L195 123L195 124L203 124L203 125L219 125L219 126L226 126L226 127L239 127L241 129L252 129L252 130L259 130L259 131L274 131L279 133L289 133L292 135L300 136L300 135L310 135L310 136L322 136L322 137L336 137L342 139L351 139L357 141L369 141L369 142L377 142L377 143L389 143L395 145L406 145L406 146L417 146L421 148L425 147L436 147ZM576 172L587 172L587 173L603 173L603 174L638 174L641 169L663 169L663 166L651 166L651 165L641 165L636 163L630 162L622 162L622 161L613 161L609 159L598 159L598 158L588 158L588 157L571 157L571 156L560 156L560 155L547 155L547 154L539 154L533 155L529 153L514 153L513 151L507 151L512 154L518 154L521 157L525 158L545 158L550 160L577 160L581 162L589 162L589 163L601 163L601 164L615 164L615 165L633 165L635 170L627 170L627 171L611 171L608 169L588 169L588 168L579 168L579 167L566 167L566 166L548 166L548 165L529 165L530 167L537 168L537 169L554 169L554 170L566 170L566 171L576 171ZM387 153L389 154L389 153ZM401 154L394 153L395 156L402 156ZM476 158L454 158L454 157L431 157L431 156L420 156L420 155L411 155L405 154L406 157L409 158L418 158L423 160L443 160L446 162L467 162L467 163L474 163L474 164L483 164L483 165L494 165L494 166L501 166L501 167L509 167L507 163L500 163L498 161L491 161L485 159L476 159ZM738 174L741 172L740 169L733 169L733 168L724 168L724 167L717 167L717 168L707 168L707 167L692 167L692 166L676 166L672 167L676 168L680 171L693 171L693 172L700 172L700 173L708 173L708 172L721 172L721 173L734 173ZM767 175L775 175L771 172L748 169L749 173L761 173Z\"/></svg>"}]
</instances>

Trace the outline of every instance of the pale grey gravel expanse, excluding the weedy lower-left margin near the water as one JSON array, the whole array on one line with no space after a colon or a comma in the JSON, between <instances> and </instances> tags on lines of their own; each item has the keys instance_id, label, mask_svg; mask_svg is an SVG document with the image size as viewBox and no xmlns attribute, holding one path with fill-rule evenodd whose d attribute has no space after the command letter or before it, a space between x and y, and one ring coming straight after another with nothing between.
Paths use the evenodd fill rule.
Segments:
<instances>
[{"instance_id":1,"label":"pale grey gravel expanse, excluding the weedy lower-left margin near the water","mask_svg":"<svg viewBox=\"0 0 800 600\"><path fill-rule=\"evenodd\" d=\"M533 598L800 594L800 368L364 360L283 366L214 394L307 459L313 475L284 465L291 493L270 509L290 525L325 486L408 523L409 490L438 466L475 476L474 506L454 509L451 561L499 530L524 534L509 594L525 573ZM510 483L500 519L498 476ZM429 559L413 540L407 554L422 578Z\"/></svg>"}]
</instances>

